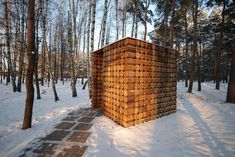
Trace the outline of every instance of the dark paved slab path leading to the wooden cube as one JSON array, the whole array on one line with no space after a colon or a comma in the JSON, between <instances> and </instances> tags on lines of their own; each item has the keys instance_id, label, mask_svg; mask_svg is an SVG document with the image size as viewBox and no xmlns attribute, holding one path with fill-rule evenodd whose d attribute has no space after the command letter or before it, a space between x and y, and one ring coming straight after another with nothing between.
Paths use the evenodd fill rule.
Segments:
<instances>
[{"instance_id":1,"label":"dark paved slab path leading to the wooden cube","mask_svg":"<svg viewBox=\"0 0 235 157\"><path fill-rule=\"evenodd\" d=\"M91 132L92 120L101 116L100 109L81 108L71 112L50 134L27 148L23 156L38 157L81 157L86 151L85 142Z\"/></svg>"}]
</instances>

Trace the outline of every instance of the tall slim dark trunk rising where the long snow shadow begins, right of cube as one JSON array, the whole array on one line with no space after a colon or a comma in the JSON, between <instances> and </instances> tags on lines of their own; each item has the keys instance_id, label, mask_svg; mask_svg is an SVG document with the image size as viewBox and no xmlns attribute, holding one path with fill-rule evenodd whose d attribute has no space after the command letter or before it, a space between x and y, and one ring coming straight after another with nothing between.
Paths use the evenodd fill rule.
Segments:
<instances>
[{"instance_id":1,"label":"tall slim dark trunk rising where the long snow shadow begins, right of cube","mask_svg":"<svg viewBox=\"0 0 235 157\"><path fill-rule=\"evenodd\" d=\"M195 78L195 55L197 54L197 13L198 13L198 0L194 0L194 5L193 5L193 55L192 55L192 69L191 69L191 74L190 74L188 93L192 93L193 80Z\"/></svg>"}]
</instances>

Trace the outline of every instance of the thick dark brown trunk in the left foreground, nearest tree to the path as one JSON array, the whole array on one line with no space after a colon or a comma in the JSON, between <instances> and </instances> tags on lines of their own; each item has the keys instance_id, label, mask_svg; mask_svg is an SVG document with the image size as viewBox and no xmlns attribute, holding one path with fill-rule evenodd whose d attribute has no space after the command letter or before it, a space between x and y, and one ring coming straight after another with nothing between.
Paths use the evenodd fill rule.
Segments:
<instances>
[{"instance_id":1,"label":"thick dark brown trunk in the left foreground, nearest tree to the path","mask_svg":"<svg viewBox=\"0 0 235 157\"><path fill-rule=\"evenodd\" d=\"M35 67L35 0L28 1L27 11L27 55L28 55L28 68L26 75L26 104L22 129L31 128L32 125L32 112L34 101L34 87L33 87L33 74Z\"/></svg>"}]
</instances>

